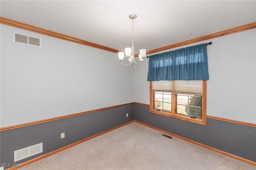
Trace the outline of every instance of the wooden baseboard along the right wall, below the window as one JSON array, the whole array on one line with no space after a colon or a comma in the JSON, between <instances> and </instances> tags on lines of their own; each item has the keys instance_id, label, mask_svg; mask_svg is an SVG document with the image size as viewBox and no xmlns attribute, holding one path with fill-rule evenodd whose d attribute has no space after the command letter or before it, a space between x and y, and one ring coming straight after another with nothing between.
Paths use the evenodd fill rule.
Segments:
<instances>
[{"instance_id":1,"label":"wooden baseboard along the right wall, below the window","mask_svg":"<svg viewBox=\"0 0 256 170\"><path fill-rule=\"evenodd\" d=\"M139 121L136 121L136 120L134 120L134 122L139 123L139 124L141 124L141 125L144 125L144 126L146 126L146 127L153 128L153 129L158 130L158 131L160 131L160 132L169 134L169 135L174 136L174 137L176 137L176 138L180 138L180 139L182 139L182 140L185 140L185 141L187 141L187 142L196 144L196 145L198 145L198 146L202 146L202 147L204 147L204 148L206 148L206 149L209 149L209 150L212 150L212 151L214 151L214 152L223 154L223 155L228 156L228 157L230 157L230 158L234 158L234 159L236 159L236 160L240 160L240 161L245 162L245 163L247 163L247 164L256 166L256 162L253 162L253 161L251 161L251 160L247 160L247 159L241 158L241 157L239 157L239 156L236 156L236 155L233 155L233 154L224 152L224 151L222 151L222 150L218 150L218 149L216 149L216 148L212 148L212 147L207 146L207 145L205 145L205 144L201 144L201 143L199 143L199 142L195 142L194 140L190 140L190 139L188 139L188 138L184 138L184 137L182 137L182 136L178 136L178 135L176 135L176 134L167 132L167 131L162 130L162 129L160 129L160 128L153 127L153 126L148 125L148 124L146 124L146 123L142 123L142 122L139 122Z\"/></svg>"}]
</instances>

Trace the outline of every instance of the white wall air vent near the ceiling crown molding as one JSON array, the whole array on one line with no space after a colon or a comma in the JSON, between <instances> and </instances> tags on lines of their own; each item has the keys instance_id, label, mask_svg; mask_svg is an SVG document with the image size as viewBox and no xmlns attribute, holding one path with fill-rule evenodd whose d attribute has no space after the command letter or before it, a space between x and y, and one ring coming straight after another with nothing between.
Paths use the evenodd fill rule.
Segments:
<instances>
[{"instance_id":1,"label":"white wall air vent near the ceiling crown molding","mask_svg":"<svg viewBox=\"0 0 256 170\"><path fill-rule=\"evenodd\" d=\"M16 32L13 32L13 42L41 47L41 38L31 37Z\"/></svg>"}]
</instances>

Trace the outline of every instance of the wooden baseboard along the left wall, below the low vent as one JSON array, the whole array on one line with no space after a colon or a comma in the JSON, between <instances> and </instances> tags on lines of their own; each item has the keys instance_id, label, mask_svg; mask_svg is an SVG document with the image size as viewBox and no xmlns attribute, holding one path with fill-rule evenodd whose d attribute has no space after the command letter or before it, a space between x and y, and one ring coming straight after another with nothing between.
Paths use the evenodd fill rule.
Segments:
<instances>
[{"instance_id":1,"label":"wooden baseboard along the left wall, below the low vent","mask_svg":"<svg viewBox=\"0 0 256 170\"><path fill-rule=\"evenodd\" d=\"M56 153L58 153L58 152L61 152L62 150L66 150L66 149L68 149L68 148L71 148L72 146L76 146L77 144L80 144L80 143L82 143L82 142L85 142L85 141L87 141L87 140L90 140L90 139L92 139L92 138L95 138L95 137L97 137L97 136L100 136L100 135L102 135L102 134L105 134L105 133L107 133L107 132L110 132L110 131L112 131L112 130L115 130L115 129L117 129L117 128L120 128L120 127L123 127L123 126L125 126L125 125L128 125L128 124L130 124L130 123L132 123L132 122L134 122L134 120L133 120L133 121L130 121L130 122L127 122L127 123L124 123L124 124L122 124L122 125L119 125L119 126L117 126L117 127L110 128L110 129L105 130L105 131L103 131L103 132L100 132L100 133L98 133L98 134L94 134L93 136L90 136L90 137L85 138L85 139L83 139L83 140L79 140L79 141L77 141L77 142L75 142L75 143L69 144L69 145L67 145L67 146L64 146L64 147L62 147L62 148L59 148L59 149L57 149L57 150L54 150L54 151L49 152L49 153L47 153L47 154L44 154L44 155L42 155L42 156L38 156L38 157L36 157L36 158L34 158L34 159L31 159L31 160L28 160L28 161L26 161L26 162L23 162L23 163L19 164L19 165L20 165L19 167L13 166L13 167L11 167L11 168L8 168L8 170L16 170L16 169L19 169L19 168L21 168L21 167L23 167L23 166L26 166L26 165L28 165L28 164L32 164L32 163L34 163L34 162L36 162L36 161L38 161L38 160L41 160L41 159L43 159L43 158L46 158L46 157L48 157L48 156L51 156L51 155L56 154Z\"/></svg>"}]
</instances>

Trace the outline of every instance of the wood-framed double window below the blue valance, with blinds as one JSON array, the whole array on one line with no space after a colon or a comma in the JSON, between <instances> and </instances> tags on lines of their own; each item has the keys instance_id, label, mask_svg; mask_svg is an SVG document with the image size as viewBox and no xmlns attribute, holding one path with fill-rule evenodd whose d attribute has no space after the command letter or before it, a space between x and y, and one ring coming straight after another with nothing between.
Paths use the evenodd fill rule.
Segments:
<instances>
[{"instance_id":1,"label":"wood-framed double window below the blue valance, with blinds","mask_svg":"<svg viewBox=\"0 0 256 170\"><path fill-rule=\"evenodd\" d=\"M206 80L150 81L150 112L206 125Z\"/></svg>"}]
</instances>

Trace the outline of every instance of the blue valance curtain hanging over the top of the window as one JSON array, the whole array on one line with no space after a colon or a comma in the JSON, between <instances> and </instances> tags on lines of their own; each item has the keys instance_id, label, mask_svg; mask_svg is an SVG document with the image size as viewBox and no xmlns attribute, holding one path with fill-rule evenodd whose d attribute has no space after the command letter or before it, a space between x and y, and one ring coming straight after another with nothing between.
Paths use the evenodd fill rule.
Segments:
<instances>
[{"instance_id":1,"label":"blue valance curtain hanging over the top of the window","mask_svg":"<svg viewBox=\"0 0 256 170\"><path fill-rule=\"evenodd\" d=\"M149 57L148 81L208 79L206 43Z\"/></svg>"}]
</instances>

